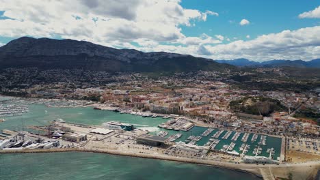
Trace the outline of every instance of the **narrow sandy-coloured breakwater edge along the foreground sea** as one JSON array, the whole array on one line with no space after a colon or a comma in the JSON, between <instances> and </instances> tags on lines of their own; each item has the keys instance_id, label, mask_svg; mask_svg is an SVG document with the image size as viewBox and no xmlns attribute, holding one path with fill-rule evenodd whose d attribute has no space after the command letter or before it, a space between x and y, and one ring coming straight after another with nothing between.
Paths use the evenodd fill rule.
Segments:
<instances>
[{"instance_id":1,"label":"narrow sandy-coloured breakwater edge along the foreground sea","mask_svg":"<svg viewBox=\"0 0 320 180\"><path fill-rule=\"evenodd\" d=\"M145 159L153 159L153 160L165 160L171 162L181 162L187 164L198 164L202 166L212 166L216 168L225 168L228 170L235 170L237 172L248 173L251 175L255 175L258 178L263 179L260 170L258 167L248 167L248 168L236 168L233 163L228 162L217 162L211 160L188 160L186 158L181 157L164 157L164 156L157 156L157 155L149 155L149 154L137 154L137 153L123 153L119 151L108 151L108 150L98 150L98 149L79 149L79 148L70 148L70 149L23 149L23 150L5 150L0 151L0 154L16 154L16 153L64 153L64 152L83 152L83 153L105 153L108 155L121 155L126 157L139 157ZM241 164L243 165L243 164ZM246 165L248 166L248 165Z\"/></svg>"}]
</instances>

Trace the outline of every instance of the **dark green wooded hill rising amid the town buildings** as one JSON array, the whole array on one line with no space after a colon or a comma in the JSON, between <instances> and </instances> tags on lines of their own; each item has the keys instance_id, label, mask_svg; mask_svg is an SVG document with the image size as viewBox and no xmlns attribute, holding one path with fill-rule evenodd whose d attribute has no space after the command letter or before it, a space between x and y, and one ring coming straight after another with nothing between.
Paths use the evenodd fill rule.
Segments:
<instances>
[{"instance_id":1,"label":"dark green wooded hill rising amid the town buildings","mask_svg":"<svg viewBox=\"0 0 320 180\"><path fill-rule=\"evenodd\" d=\"M250 115L269 116L274 111L286 111L278 100L268 97L244 97L229 104L234 112L243 112Z\"/></svg>"}]
</instances>

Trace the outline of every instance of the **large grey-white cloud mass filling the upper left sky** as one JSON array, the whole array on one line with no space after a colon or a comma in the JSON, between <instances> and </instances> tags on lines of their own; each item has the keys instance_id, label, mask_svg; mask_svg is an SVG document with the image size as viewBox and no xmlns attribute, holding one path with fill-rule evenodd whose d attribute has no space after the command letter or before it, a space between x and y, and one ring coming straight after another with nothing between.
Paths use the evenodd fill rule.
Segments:
<instances>
[{"instance_id":1,"label":"large grey-white cloud mass filling the upper left sky","mask_svg":"<svg viewBox=\"0 0 320 180\"><path fill-rule=\"evenodd\" d=\"M186 37L181 25L193 26L207 16L218 16L216 12L185 9L180 3L180 0L0 0L0 11L5 11L3 16L8 17L0 20L0 35L59 35L106 46L128 42L150 46L154 42L183 40Z\"/></svg>"}]
</instances>

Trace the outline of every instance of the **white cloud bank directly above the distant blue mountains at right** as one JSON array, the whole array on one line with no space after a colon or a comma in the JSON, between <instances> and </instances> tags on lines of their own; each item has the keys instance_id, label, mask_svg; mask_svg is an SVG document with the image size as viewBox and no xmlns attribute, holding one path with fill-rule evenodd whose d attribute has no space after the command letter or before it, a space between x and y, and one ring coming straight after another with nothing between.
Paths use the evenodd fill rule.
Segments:
<instances>
[{"instance_id":1,"label":"white cloud bank directly above the distant blue mountains at right","mask_svg":"<svg viewBox=\"0 0 320 180\"><path fill-rule=\"evenodd\" d=\"M320 26L285 30L258 36L254 40L237 40L229 44L207 45L213 59L240 57L264 61L270 59L317 59L320 57Z\"/></svg>"}]
</instances>

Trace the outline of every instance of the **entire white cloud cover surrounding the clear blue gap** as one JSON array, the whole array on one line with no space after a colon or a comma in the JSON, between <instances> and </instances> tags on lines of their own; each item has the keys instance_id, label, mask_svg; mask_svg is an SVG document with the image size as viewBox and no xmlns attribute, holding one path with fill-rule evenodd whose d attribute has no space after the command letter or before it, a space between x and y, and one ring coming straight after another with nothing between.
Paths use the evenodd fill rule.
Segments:
<instances>
[{"instance_id":1,"label":"entire white cloud cover surrounding the clear blue gap","mask_svg":"<svg viewBox=\"0 0 320 180\"><path fill-rule=\"evenodd\" d=\"M218 14L185 9L180 2L0 0L0 11L5 11L3 15L8 17L0 20L0 36L61 36L105 46L176 52L211 59L244 57L263 61L320 57L320 26L261 35L247 41L223 35L187 37L181 25L193 26L196 21ZM242 25L250 24L245 19L241 22ZM222 44L224 40L228 44ZM133 45L135 43L138 46Z\"/></svg>"}]
</instances>

